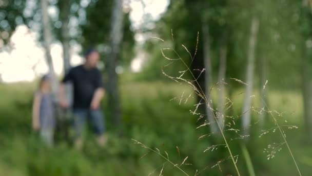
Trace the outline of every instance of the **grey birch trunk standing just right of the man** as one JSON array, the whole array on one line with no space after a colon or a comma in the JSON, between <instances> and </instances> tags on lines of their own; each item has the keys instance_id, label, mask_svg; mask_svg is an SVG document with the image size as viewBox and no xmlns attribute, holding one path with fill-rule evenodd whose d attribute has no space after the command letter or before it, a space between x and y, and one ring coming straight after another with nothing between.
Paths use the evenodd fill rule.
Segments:
<instances>
[{"instance_id":1,"label":"grey birch trunk standing just right of the man","mask_svg":"<svg viewBox=\"0 0 312 176\"><path fill-rule=\"evenodd\" d=\"M111 17L110 46L111 51L108 57L108 91L109 100L111 101L111 110L114 124L121 122L121 105L118 89L118 76L116 74L117 60L120 56L120 47L123 38L123 1L114 0Z\"/></svg>"}]
</instances>

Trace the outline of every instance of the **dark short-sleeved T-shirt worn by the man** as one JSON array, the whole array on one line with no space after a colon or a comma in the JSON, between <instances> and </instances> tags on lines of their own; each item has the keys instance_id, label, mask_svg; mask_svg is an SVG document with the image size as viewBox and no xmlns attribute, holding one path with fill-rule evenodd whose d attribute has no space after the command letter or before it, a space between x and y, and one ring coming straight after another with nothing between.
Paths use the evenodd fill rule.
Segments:
<instances>
[{"instance_id":1,"label":"dark short-sleeved T-shirt worn by the man","mask_svg":"<svg viewBox=\"0 0 312 176\"><path fill-rule=\"evenodd\" d=\"M95 90L103 87L102 75L99 69L86 69L84 65L73 67L62 80L63 83L73 83L73 108L89 109Z\"/></svg>"}]
</instances>

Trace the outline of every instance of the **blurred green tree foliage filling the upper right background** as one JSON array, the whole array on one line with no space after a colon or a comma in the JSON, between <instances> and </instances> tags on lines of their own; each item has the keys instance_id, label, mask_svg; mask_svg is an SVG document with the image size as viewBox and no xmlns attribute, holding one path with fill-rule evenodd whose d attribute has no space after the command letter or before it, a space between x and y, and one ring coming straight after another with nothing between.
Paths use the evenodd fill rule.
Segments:
<instances>
[{"instance_id":1,"label":"blurred green tree foliage filling the upper right background","mask_svg":"<svg viewBox=\"0 0 312 176\"><path fill-rule=\"evenodd\" d=\"M287 10L285 10L287 9ZM179 15L177 15L179 14ZM150 39L145 49L151 56L142 74L145 79L162 79L162 66L171 61L162 60L159 48L172 48L188 63L190 57L182 44L193 55L199 44L197 57L191 68L203 68L202 24L209 26L212 59L212 78L217 82L222 36L228 33L226 78L245 80L246 58L251 17L260 20L256 43L255 82L260 79L261 60L267 60L267 80L272 88L300 89L301 58L310 38L310 9L294 1L172 1L151 32L165 42ZM173 34L173 41L171 36ZM176 58L174 54L168 57ZM168 75L184 70L180 64L166 68ZM233 86L233 85L231 85Z\"/></svg>"}]
</instances>

